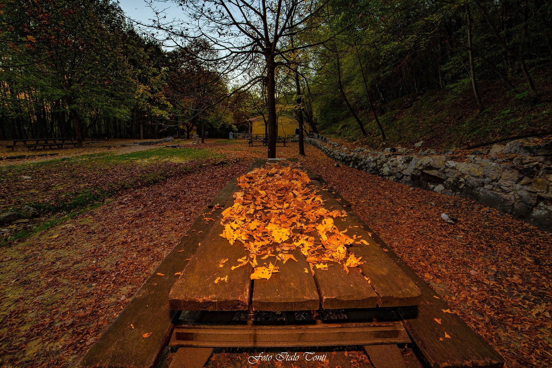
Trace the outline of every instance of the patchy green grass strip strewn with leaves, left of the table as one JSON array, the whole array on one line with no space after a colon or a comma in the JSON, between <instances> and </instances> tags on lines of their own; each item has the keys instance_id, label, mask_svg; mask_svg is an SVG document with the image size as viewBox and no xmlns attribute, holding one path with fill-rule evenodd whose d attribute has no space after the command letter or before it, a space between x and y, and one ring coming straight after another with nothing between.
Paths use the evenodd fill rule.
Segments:
<instances>
[{"instance_id":1,"label":"patchy green grass strip strewn with leaves, left of the table","mask_svg":"<svg viewBox=\"0 0 552 368\"><path fill-rule=\"evenodd\" d=\"M0 246L97 207L122 190L148 186L190 170L190 161L219 158L195 148L154 148L131 153L104 152L13 166L0 166L0 212L29 205L40 214L29 223L7 226ZM30 177L24 178L24 177ZM4 232L4 234L6 233Z\"/></svg>"}]
</instances>

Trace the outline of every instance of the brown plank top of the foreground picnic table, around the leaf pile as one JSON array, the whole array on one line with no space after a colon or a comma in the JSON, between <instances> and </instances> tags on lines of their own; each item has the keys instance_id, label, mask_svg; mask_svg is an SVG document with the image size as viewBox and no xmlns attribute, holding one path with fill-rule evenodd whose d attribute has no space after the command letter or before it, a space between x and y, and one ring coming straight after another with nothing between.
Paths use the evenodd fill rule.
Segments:
<instances>
[{"instance_id":1,"label":"brown plank top of the foreground picnic table, around the leaf pile","mask_svg":"<svg viewBox=\"0 0 552 368\"><path fill-rule=\"evenodd\" d=\"M250 170L264 163L266 160L256 160ZM240 189L236 181L233 182L217 196L217 201L226 208L233 205L232 193ZM322 195L323 207L327 210L343 208L319 181L311 180L309 187ZM296 261L278 261L278 273L269 279L255 280L250 278L253 272L250 264L231 270L236 260L249 252L241 242L230 245L221 237L224 226L220 219L215 221L171 290L169 305L172 310L245 311L252 306L253 310L261 311L299 311L317 310L320 306L348 309L418 304L421 292L412 279L351 216L335 218L335 226L339 231L347 229L348 236L356 235L357 239L360 237L367 242L354 243L347 250L362 257L365 263L349 268L346 273L341 264L327 262L327 269L313 268L313 274L298 247L290 251ZM276 246L274 244L274 248ZM229 261L221 267L221 261L226 258ZM275 263L275 257L264 261ZM217 278L226 276L226 281L215 283Z\"/></svg>"}]
</instances>

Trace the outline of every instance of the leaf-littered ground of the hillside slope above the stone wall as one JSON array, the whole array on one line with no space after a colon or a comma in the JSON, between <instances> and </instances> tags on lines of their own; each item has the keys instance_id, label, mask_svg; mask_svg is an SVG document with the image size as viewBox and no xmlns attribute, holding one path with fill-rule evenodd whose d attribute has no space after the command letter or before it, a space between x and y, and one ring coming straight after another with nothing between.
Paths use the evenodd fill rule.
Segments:
<instances>
[{"instance_id":1,"label":"leaf-littered ground of the hillside slope above the stone wall","mask_svg":"<svg viewBox=\"0 0 552 368\"><path fill-rule=\"evenodd\" d=\"M534 73L535 75L537 73ZM498 81L482 81L481 97L486 110L477 109L469 80L408 95L379 104L379 118L388 138L383 141L369 110L358 111L368 136L363 137L357 122L347 111L341 118L319 117L319 129L328 137L344 139L369 148L412 147L424 141L424 148L466 148L495 140L552 133L552 75L536 78L539 101L527 92L508 90ZM521 81L516 85L522 86Z\"/></svg>"}]
</instances>

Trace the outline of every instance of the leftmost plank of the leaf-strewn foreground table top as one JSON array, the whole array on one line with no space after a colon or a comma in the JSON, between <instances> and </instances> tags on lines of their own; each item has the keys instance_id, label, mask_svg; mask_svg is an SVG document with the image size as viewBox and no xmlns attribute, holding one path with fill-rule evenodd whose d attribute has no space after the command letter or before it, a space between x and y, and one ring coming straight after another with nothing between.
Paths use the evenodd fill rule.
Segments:
<instances>
[{"instance_id":1,"label":"leftmost plank of the leaf-strewn foreground table top","mask_svg":"<svg viewBox=\"0 0 552 368\"><path fill-rule=\"evenodd\" d=\"M252 267L231 269L237 259L247 256L242 243L230 243L220 236L219 221L213 226L190 259L169 295L172 310L239 311L247 310ZM225 263L222 260L228 259ZM220 265L222 264L222 267ZM227 281L220 278L227 277ZM219 282L215 281L219 279Z\"/></svg>"}]
</instances>

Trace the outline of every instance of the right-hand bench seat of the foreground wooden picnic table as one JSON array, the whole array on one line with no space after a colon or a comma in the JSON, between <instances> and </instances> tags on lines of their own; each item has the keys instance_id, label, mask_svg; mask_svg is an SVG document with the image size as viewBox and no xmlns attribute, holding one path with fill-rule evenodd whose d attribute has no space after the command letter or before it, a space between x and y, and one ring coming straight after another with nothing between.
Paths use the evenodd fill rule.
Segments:
<instances>
[{"instance_id":1,"label":"right-hand bench seat of the foreground wooden picnic table","mask_svg":"<svg viewBox=\"0 0 552 368\"><path fill-rule=\"evenodd\" d=\"M420 349L428 366L435 368L501 368L504 366L502 356L458 315L443 312L450 309L447 302L437 299L438 295L433 289L423 282L357 214L349 215L365 230L372 233L371 238L378 246L388 250L386 254L421 290L422 295L417 307L399 307L397 311L402 317L406 331ZM438 318L441 323L437 323L434 318ZM445 332L450 339L445 337Z\"/></svg>"}]
</instances>

